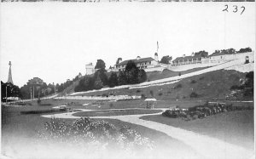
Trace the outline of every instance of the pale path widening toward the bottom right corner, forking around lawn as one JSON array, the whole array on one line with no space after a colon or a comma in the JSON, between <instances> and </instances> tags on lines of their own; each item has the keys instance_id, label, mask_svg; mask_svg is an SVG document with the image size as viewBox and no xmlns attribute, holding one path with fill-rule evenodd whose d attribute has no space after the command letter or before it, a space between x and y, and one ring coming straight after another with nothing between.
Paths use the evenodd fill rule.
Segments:
<instances>
[{"instance_id":1,"label":"pale path widening toward the bottom right corner, forking around lawn","mask_svg":"<svg viewBox=\"0 0 256 159\"><path fill-rule=\"evenodd\" d=\"M96 110L85 110L78 109L81 111L96 111ZM122 109L124 110L124 109ZM127 109L131 110L131 109ZM166 109L162 109L165 111ZM100 110L102 111L102 110ZM106 110L111 111L111 110ZM53 117L55 118L80 118L79 116L73 116L73 113L76 112L68 112L62 114L55 115L44 115L44 117ZM160 112L161 113L161 112ZM166 133L168 136L173 139L177 139L182 141L184 144L189 145L194 150L196 150L201 156L204 158L230 158L230 159L247 159L247 158L255 158L254 152L250 150L246 150L238 145L232 145L224 142L220 139L215 139L209 137L207 135L202 135L198 133L194 133L189 130L184 130L182 128L175 128L166 124L162 124L159 122L151 122L140 119L141 116L145 115L158 115L160 113L154 114L141 114L141 115L129 115L129 116L91 116L90 118L109 118L109 119L117 119L123 122L131 122L133 124L141 125L147 128L154 129L161 133Z\"/></svg>"}]
</instances>

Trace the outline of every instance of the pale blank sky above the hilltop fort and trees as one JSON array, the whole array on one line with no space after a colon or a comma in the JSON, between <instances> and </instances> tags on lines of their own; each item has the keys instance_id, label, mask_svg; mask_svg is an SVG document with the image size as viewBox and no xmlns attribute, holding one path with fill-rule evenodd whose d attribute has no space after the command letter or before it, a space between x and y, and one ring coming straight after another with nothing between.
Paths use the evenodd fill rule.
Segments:
<instances>
[{"instance_id":1,"label":"pale blank sky above the hilltop fort and trees","mask_svg":"<svg viewBox=\"0 0 256 159\"><path fill-rule=\"evenodd\" d=\"M216 49L255 50L255 5L236 3L1 3L1 81L61 83L97 59L154 57Z\"/></svg>"}]
</instances>

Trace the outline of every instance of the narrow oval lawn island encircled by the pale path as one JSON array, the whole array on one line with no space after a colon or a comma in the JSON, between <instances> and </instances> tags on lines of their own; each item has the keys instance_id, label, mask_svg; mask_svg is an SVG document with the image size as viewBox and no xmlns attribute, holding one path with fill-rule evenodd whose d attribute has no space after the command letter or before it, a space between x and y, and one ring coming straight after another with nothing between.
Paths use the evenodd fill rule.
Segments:
<instances>
[{"instance_id":1,"label":"narrow oval lawn island encircled by the pale path","mask_svg":"<svg viewBox=\"0 0 256 159\"><path fill-rule=\"evenodd\" d=\"M161 110L128 109L111 111L83 111L74 113L73 116L127 116L138 114L154 114L159 112L161 112Z\"/></svg>"}]
</instances>

